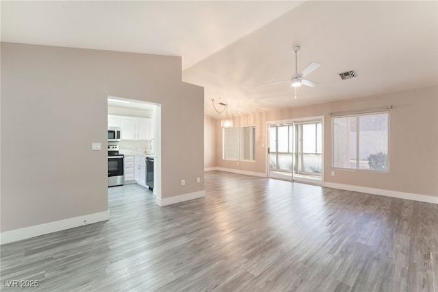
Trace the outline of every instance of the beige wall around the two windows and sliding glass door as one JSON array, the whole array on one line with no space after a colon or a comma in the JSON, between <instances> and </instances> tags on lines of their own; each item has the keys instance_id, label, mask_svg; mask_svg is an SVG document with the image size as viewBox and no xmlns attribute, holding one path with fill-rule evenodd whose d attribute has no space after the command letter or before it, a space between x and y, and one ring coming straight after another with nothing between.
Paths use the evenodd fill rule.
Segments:
<instances>
[{"instance_id":1,"label":"beige wall around the two windows and sliding glass door","mask_svg":"<svg viewBox=\"0 0 438 292\"><path fill-rule=\"evenodd\" d=\"M394 106L389 116L388 173L336 169L331 176L331 117L329 112ZM438 196L438 90L436 86L235 117L235 126L256 125L256 162L222 160L220 121L216 121L216 166L266 173L267 123L305 117L325 117L324 180L389 191ZM265 144L263 147L262 145Z\"/></svg>"}]
</instances>

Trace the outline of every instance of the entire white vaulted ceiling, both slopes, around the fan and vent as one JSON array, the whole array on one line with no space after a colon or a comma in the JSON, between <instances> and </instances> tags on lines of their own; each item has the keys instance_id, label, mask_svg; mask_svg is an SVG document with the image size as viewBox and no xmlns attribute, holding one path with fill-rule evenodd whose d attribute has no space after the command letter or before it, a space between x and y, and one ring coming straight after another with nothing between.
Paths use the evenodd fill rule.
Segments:
<instances>
[{"instance_id":1,"label":"entire white vaulted ceiling, both slopes, around the fan and vent","mask_svg":"<svg viewBox=\"0 0 438 292\"><path fill-rule=\"evenodd\" d=\"M437 1L1 1L1 40L182 56L183 80L232 115L437 85ZM287 80L292 47L307 76ZM337 75L355 69L358 77Z\"/></svg>"}]
</instances>

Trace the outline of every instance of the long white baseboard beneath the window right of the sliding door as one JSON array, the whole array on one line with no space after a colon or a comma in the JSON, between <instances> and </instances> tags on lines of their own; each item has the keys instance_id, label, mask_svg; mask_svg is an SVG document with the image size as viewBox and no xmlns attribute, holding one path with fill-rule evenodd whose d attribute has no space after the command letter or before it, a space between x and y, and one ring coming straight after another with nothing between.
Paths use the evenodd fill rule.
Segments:
<instances>
[{"instance_id":1,"label":"long white baseboard beneath the window right of the sliding door","mask_svg":"<svg viewBox=\"0 0 438 292\"><path fill-rule=\"evenodd\" d=\"M373 195L384 195L386 197L397 197L398 199L410 199L418 202L438 204L438 197L433 197L431 195L404 193L399 191L383 190L381 188L368 188L365 186L352 186L350 184L337 184L335 182L324 182L322 186L325 186L327 188L338 188L347 191L369 193Z\"/></svg>"}]
</instances>

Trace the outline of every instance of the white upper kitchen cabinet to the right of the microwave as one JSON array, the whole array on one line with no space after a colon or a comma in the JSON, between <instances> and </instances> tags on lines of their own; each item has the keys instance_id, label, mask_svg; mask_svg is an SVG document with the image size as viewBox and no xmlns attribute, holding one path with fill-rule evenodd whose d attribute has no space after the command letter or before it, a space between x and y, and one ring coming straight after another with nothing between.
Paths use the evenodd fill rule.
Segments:
<instances>
[{"instance_id":1,"label":"white upper kitchen cabinet to the right of the microwave","mask_svg":"<svg viewBox=\"0 0 438 292\"><path fill-rule=\"evenodd\" d=\"M151 119L121 117L122 140L151 140Z\"/></svg>"}]
</instances>

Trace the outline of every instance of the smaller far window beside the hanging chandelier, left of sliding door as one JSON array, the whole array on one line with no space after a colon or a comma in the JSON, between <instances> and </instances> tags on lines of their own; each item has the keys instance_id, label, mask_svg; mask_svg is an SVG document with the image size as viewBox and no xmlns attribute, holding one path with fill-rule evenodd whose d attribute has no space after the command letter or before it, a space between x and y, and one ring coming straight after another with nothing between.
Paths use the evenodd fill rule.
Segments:
<instances>
[{"instance_id":1,"label":"smaller far window beside the hanging chandelier, left of sliding door","mask_svg":"<svg viewBox=\"0 0 438 292\"><path fill-rule=\"evenodd\" d=\"M222 131L223 159L255 160L255 126L224 127Z\"/></svg>"}]
</instances>

